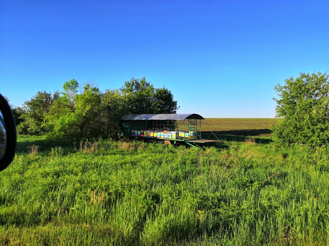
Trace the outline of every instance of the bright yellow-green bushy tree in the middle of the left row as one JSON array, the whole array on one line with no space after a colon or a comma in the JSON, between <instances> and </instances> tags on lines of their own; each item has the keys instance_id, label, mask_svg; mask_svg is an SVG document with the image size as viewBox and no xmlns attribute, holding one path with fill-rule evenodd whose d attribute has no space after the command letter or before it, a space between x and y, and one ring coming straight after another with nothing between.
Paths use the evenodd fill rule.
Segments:
<instances>
[{"instance_id":1,"label":"bright yellow-green bushy tree in the middle of the left row","mask_svg":"<svg viewBox=\"0 0 329 246\"><path fill-rule=\"evenodd\" d=\"M63 85L64 92L54 101L44 126L50 136L78 140L98 136L95 125L101 105L99 89L86 84L77 93L78 83L72 79Z\"/></svg>"}]
</instances>

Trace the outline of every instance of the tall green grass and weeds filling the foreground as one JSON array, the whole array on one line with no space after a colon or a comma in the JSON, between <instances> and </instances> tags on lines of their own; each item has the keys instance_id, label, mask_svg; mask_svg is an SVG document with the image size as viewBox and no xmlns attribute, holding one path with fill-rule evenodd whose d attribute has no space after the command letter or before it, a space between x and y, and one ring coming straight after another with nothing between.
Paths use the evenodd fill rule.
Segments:
<instances>
[{"instance_id":1,"label":"tall green grass and weeds filling the foreground","mask_svg":"<svg viewBox=\"0 0 329 246\"><path fill-rule=\"evenodd\" d=\"M18 137L0 245L329 245L327 149L59 144Z\"/></svg>"}]
</instances>

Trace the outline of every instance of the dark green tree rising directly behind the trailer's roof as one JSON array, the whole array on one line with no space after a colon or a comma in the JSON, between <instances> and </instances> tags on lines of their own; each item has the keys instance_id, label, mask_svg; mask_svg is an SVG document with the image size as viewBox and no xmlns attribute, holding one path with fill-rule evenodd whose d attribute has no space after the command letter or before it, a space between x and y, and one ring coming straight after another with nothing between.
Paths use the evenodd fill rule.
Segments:
<instances>
[{"instance_id":1,"label":"dark green tree rising directly behind the trailer's roof","mask_svg":"<svg viewBox=\"0 0 329 246\"><path fill-rule=\"evenodd\" d=\"M126 81L120 92L126 103L127 114L176 113L179 108L168 89L155 89L145 77Z\"/></svg>"}]
</instances>

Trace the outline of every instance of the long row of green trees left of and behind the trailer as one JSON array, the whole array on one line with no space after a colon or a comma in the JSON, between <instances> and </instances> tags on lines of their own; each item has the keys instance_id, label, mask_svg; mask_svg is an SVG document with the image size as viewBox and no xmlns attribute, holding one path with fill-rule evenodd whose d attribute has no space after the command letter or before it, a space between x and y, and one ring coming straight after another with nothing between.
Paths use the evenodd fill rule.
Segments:
<instances>
[{"instance_id":1,"label":"long row of green trees left of and behind the trailer","mask_svg":"<svg viewBox=\"0 0 329 246\"><path fill-rule=\"evenodd\" d=\"M18 134L63 140L117 138L125 114L176 113L177 101L167 88L154 88L145 78L126 81L120 89L101 92L75 79L63 92L37 92L22 107L12 107Z\"/></svg>"}]
</instances>

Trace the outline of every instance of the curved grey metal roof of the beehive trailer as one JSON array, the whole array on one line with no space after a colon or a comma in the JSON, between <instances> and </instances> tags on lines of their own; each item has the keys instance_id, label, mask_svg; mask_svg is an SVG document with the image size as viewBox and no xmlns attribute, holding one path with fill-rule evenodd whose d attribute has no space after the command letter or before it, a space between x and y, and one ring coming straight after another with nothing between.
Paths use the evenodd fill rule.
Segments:
<instances>
[{"instance_id":1,"label":"curved grey metal roof of the beehive trailer","mask_svg":"<svg viewBox=\"0 0 329 246\"><path fill-rule=\"evenodd\" d=\"M185 120L204 118L196 113L127 114L121 120Z\"/></svg>"}]
</instances>

